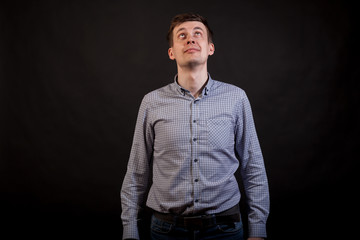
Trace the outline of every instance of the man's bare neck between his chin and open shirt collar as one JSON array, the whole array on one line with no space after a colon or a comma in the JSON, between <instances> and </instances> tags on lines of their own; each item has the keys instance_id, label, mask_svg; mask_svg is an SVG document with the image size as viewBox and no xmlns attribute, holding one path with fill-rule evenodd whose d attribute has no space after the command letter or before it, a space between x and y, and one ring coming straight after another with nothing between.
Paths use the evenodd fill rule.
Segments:
<instances>
[{"instance_id":1,"label":"man's bare neck between his chin and open shirt collar","mask_svg":"<svg viewBox=\"0 0 360 240\"><path fill-rule=\"evenodd\" d=\"M178 83L181 87L189 90L191 95L197 98L208 80L207 67L182 68L178 66Z\"/></svg>"}]
</instances>

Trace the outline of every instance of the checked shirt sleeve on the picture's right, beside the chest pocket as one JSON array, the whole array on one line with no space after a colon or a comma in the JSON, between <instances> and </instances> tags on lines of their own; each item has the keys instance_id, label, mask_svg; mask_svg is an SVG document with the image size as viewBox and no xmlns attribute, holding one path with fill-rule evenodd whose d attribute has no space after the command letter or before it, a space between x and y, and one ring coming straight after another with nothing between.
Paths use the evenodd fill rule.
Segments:
<instances>
[{"instance_id":1,"label":"checked shirt sleeve on the picture's right, beside the chest pocket","mask_svg":"<svg viewBox=\"0 0 360 240\"><path fill-rule=\"evenodd\" d=\"M249 207L249 237L266 237L266 221L270 208L268 180L251 106L244 92L240 105L236 153Z\"/></svg>"}]
</instances>

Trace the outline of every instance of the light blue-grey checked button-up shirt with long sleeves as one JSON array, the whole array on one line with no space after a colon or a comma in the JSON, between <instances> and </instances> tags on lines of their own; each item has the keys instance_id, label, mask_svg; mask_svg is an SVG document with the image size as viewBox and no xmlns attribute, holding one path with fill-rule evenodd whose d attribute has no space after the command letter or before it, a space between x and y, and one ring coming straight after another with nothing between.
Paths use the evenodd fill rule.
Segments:
<instances>
[{"instance_id":1,"label":"light blue-grey checked button-up shirt with long sleeves","mask_svg":"<svg viewBox=\"0 0 360 240\"><path fill-rule=\"evenodd\" d=\"M239 166L249 235L266 237L268 182L245 92L209 75L197 99L176 77L148 93L121 190L123 238L139 238L137 218L147 194L146 205L163 213L213 214L235 206Z\"/></svg>"}]
</instances>

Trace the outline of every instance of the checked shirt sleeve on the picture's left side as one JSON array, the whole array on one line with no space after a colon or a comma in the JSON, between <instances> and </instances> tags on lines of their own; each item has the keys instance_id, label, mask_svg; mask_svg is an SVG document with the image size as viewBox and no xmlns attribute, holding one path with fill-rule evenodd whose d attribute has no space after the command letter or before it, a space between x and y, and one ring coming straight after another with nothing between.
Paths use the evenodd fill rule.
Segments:
<instances>
[{"instance_id":1,"label":"checked shirt sleeve on the picture's left side","mask_svg":"<svg viewBox=\"0 0 360 240\"><path fill-rule=\"evenodd\" d=\"M144 98L139 109L127 172L121 188L123 239L139 239L138 215L145 204L150 182L154 134Z\"/></svg>"}]
</instances>

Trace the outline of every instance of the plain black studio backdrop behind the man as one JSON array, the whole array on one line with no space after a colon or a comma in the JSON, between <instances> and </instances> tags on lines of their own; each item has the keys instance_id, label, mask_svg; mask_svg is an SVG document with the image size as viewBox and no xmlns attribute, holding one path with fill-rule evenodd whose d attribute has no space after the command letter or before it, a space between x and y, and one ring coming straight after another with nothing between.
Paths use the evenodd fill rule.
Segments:
<instances>
[{"instance_id":1,"label":"plain black studio backdrop behind the man","mask_svg":"<svg viewBox=\"0 0 360 240\"><path fill-rule=\"evenodd\" d=\"M271 191L269 239L355 232L358 29L347 1L0 6L2 232L120 238L138 107L173 81L165 35L188 11L215 32L212 77L250 98Z\"/></svg>"}]
</instances>

